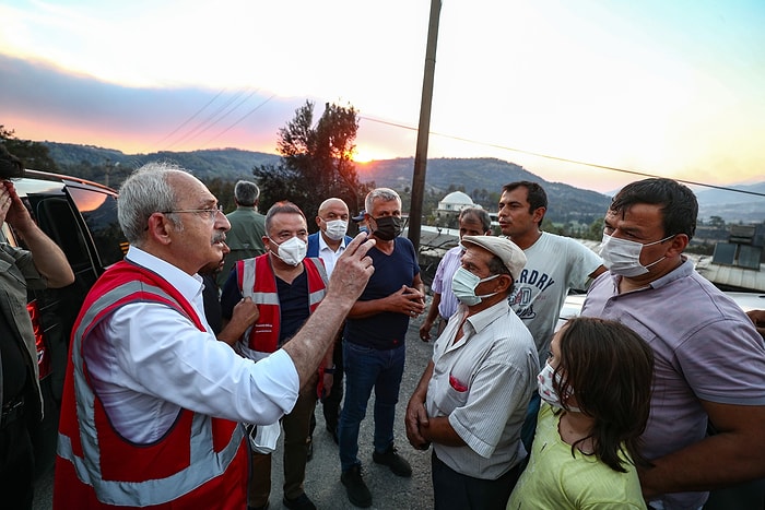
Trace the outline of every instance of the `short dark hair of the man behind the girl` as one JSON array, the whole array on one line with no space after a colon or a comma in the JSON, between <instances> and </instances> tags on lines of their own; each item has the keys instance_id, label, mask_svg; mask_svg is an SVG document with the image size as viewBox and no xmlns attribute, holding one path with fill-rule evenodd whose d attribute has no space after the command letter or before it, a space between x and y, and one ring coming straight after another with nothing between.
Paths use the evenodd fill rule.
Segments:
<instances>
[{"instance_id":1,"label":"short dark hair of the man behind the girl","mask_svg":"<svg viewBox=\"0 0 765 510\"><path fill-rule=\"evenodd\" d=\"M685 234L690 240L696 233L698 201L687 186L663 178L631 182L616 193L609 210L624 217L638 203L661 205L664 237Z\"/></svg>"}]
</instances>

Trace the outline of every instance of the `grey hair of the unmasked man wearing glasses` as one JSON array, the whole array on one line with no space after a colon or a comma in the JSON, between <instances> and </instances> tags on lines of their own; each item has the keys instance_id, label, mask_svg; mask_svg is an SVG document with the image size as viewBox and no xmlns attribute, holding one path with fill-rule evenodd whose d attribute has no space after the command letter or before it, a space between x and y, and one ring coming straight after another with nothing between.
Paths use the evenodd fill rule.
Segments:
<instances>
[{"instance_id":1,"label":"grey hair of the unmasked man wearing glasses","mask_svg":"<svg viewBox=\"0 0 765 510\"><path fill-rule=\"evenodd\" d=\"M168 178L178 171L188 174L173 163L152 162L133 171L122 182L117 199L117 218L128 242L140 248L146 238L149 217L156 212L175 209L178 197ZM170 221L176 228L184 228L180 217L172 215Z\"/></svg>"}]
</instances>

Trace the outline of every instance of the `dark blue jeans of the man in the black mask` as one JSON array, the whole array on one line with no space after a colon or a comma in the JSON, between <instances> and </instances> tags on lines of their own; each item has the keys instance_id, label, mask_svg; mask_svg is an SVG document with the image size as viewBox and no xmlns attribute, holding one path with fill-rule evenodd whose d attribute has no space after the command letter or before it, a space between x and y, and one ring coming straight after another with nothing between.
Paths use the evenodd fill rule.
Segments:
<instances>
[{"instance_id":1,"label":"dark blue jeans of the man in the black mask","mask_svg":"<svg viewBox=\"0 0 765 510\"><path fill-rule=\"evenodd\" d=\"M340 465L343 472L358 460L358 427L375 389L375 451L384 452L393 443L393 420L399 387L407 357L404 345L390 351L343 342L345 401L338 424Z\"/></svg>"}]
</instances>

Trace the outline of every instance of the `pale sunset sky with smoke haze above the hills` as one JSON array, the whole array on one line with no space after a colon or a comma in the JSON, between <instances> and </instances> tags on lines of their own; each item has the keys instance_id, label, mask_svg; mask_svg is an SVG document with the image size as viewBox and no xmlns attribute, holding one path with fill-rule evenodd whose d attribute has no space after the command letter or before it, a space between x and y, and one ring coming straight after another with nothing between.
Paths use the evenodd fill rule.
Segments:
<instances>
[{"instance_id":1,"label":"pale sunset sky with smoke haze above the hills","mask_svg":"<svg viewBox=\"0 0 765 510\"><path fill-rule=\"evenodd\" d=\"M429 0L0 4L0 124L125 153L275 153L310 99L360 159L415 152ZM444 0L428 157L497 157L608 191L765 180L762 0ZM532 153L532 154L530 154Z\"/></svg>"}]
</instances>

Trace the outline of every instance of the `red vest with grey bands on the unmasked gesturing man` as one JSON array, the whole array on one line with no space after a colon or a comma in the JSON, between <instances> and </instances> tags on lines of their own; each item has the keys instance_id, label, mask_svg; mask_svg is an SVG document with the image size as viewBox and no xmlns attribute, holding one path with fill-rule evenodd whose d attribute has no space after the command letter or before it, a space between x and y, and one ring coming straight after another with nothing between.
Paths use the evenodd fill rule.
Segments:
<instances>
[{"instance_id":1,"label":"red vest with grey bands on the unmasked gesturing man","mask_svg":"<svg viewBox=\"0 0 765 510\"><path fill-rule=\"evenodd\" d=\"M204 331L191 305L157 274L119 262L95 283L72 329L59 424L54 509L245 508L247 448L239 424L181 410L165 436L134 444L109 424L83 357L93 328L119 307L157 301ZM114 339L119 341L119 339Z\"/></svg>"}]
</instances>

